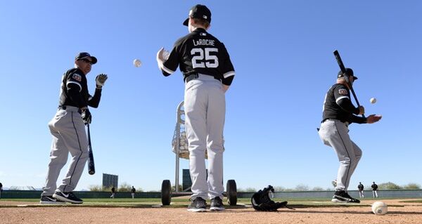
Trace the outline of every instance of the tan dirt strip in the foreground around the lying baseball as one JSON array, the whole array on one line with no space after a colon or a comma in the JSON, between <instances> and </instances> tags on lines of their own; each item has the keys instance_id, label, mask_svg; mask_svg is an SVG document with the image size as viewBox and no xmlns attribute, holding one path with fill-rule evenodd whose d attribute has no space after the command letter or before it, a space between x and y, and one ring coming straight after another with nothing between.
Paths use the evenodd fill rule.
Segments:
<instances>
[{"instance_id":1,"label":"tan dirt strip in the foreground around the lying baseball","mask_svg":"<svg viewBox=\"0 0 422 224\"><path fill-rule=\"evenodd\" d=\"M179 207L57 207L0 201L0 223L422 223L422 203L400 201L383 200L389 204L385 216L371 213L373 201L359 206L303 206L278 212L236 207L204 213L191 213Z\"/></svg>"}]
</instances>

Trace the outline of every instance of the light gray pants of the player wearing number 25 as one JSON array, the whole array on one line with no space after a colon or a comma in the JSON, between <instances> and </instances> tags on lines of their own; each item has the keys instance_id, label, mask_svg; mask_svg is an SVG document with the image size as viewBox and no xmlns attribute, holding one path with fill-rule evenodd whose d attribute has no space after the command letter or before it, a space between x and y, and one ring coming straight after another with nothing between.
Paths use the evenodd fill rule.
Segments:
<instances>
[{"instance_id":1,"label":"light gray pants of the player wearing number 25","mask_svg":"<svg viewBox=\"0 0 422 224\"><path fill-rule=\"evenodd\" d=\"M184 111L189 150L191 199L223 198L223 129L226 100L222 83L208 75L185 85ZM208 155L208 180L205 169Z\"/></svg>"}]
</instances>

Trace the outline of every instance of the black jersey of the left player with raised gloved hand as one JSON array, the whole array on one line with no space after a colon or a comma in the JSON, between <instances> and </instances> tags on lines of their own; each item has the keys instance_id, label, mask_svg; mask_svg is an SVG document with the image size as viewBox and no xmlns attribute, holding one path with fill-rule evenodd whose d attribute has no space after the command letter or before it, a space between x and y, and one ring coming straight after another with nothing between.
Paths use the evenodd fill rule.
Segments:
<instances>
[{"instance_id":1,"label":"black jersey of the left player with raised gloved hand","mask_svg":"<svg viewBox=\"0 0 422 224\"><path fill-rule=\"evenodd\" d=\"M73 107L98 107L101 89L96 88L94 96L89 95L87 77L82 70L72 68L63 74L59 105Z\"/></svg>"}]
</instances>

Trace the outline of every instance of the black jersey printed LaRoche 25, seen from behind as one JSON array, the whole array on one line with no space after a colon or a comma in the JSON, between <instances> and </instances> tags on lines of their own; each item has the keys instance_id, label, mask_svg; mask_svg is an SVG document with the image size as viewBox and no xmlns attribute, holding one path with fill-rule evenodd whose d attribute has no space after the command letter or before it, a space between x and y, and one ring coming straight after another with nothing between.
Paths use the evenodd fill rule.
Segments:
<instances>
[{"instance_id":1,"label":"black jersey printed LaRoche 25, seen from behind","mask_svg":"<svg viewBox=\"0 0 422 224\"><path fill-rule=\"evenodd\" d=\"M168 76L178 66L184 74L184 80L191 74L207 74L230 86L235 74L224 44L202 28L176 41L161 67L162 74Z\"/></svg>"}]
</instances>

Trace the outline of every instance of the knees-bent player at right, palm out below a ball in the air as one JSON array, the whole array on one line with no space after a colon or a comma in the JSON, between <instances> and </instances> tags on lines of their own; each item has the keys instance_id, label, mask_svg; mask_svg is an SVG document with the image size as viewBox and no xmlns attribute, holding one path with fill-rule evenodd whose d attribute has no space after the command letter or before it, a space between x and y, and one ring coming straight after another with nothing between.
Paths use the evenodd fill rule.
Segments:
<instances>
[{"instance_id":1,"label":"knees-bent player at right, palm out below a ball in the air","mask_svg":"<svg viewBox=\"0 0 422 224\"><path fill-rule=\"evenodd\" d=\"M354 107L350 100L350 86L357 77L353 70L346 69L347 75L338 72L337 84L331 86L326 93L324 101L319 137L325 145L333 147L337 153L340 167L337 173L337 186L331 202L360 203L358 199L350 197L347 193L350 178L356 169L362 150L352 141L349 136L348 126L351 123L372 124L381 119L380 115L371 114L368 117L359 117L354 114L364 114L364 107ZM349 79L350 81L346 81Z\"/></svg>"}]
</instances>

